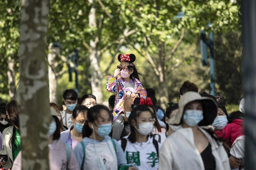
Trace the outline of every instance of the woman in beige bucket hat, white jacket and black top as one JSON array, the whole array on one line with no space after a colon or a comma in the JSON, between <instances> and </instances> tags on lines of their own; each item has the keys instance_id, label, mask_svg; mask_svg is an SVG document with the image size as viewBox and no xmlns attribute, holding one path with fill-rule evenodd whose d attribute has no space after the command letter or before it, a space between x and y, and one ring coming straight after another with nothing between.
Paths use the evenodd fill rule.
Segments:
<instances>
[{"instance_id":1,"label":"woman in beige bucket hat, white jacket and black top","mask_svg":"<svg viewBox=\"0 0 256 170\"><path fill-rule=\"evenodd\" d=\"M182 128L168 137L159 153L159 170L230 170L222 144L200 126L211 125L217 104L196 92L186 92L169 124Z\"/></svg>"}]
</instances>

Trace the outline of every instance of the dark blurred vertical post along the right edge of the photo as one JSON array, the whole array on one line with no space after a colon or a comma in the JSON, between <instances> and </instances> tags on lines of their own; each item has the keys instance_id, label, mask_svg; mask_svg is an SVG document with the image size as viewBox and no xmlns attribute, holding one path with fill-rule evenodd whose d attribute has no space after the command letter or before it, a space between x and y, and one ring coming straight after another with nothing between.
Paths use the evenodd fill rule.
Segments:
<instances>
[{"instance_id":1,"label":"dark blurred vertical post along the right edge of the photo","mask_svg":"<svg viewBox=\"0 0 256 170\"><path fill-rule=\"evenodd\" d=\"M255 0L241 1L243 23L243 78L245 94L245 169L256 169L256 34Z\"/></svg>"}]
</instances>

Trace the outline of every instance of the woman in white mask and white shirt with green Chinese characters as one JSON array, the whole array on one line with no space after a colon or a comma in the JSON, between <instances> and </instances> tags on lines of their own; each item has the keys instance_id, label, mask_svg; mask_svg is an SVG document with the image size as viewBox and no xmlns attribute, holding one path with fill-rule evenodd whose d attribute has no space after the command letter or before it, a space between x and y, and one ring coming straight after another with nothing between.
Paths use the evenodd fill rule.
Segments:
<instances>
[{"instance_id":1,"label":"woman in white mask and white shirt with green Chinese characters","mask_svg":"<svg viewBox=\"0 0 256 170\"><path fill-rule=\"evenodd\" d=\"M147 105L133 107L128 119L131 133L118 141L125 152L127 164L131 164L134 169L158 169L161 139L155 140L150 135L155 123L154 118L153 112Z\"/></svg>"}]
</instances>

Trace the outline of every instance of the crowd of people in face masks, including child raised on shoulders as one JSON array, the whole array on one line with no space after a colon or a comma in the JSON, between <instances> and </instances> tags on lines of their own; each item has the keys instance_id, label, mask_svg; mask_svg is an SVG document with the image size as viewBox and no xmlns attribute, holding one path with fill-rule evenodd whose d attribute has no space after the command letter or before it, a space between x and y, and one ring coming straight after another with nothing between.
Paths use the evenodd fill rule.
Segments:
<instances>
[{"instance_id":1,"label":"crowd of people in face masks, including child raised on shoulders","mask_svg":"<svg viewBox=\"0 0 256 170\"><path fill-rule=\"evenodd\" d=\"M133 54L120 54L106 90L109 106L97 96L63 92L60 108L50 103L50 169L229 170L244 166L244 100L228 113L225 98L198 92L185 81L179 103L157 105L154 89L145 89ZM15 100L0 105L0 165L21 169L19 111ZM4 158L4 155L7 155Z\"/></svg>"}]
</instances>

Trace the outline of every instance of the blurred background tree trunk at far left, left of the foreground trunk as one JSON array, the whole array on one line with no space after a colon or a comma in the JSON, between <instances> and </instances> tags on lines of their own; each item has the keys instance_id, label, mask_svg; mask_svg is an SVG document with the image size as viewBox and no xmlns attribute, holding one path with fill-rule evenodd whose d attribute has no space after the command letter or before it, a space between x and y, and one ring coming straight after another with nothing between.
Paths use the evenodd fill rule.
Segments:
<instances>
[{"instance_id":1,"label":"blurred background tree trunk at far left, left of the foreground trunk","mask_svg":"<svg viewBox=\"0 0 256 170\"><path fill-rule=\"evenodd\" d=\"M14 65L15 65L14 59L11 56L9 56L7 76L8 76L8 85L9 85L9 96L11 100L15 98L15 93L16 93Z\"/></svg>"}]
</instances>

